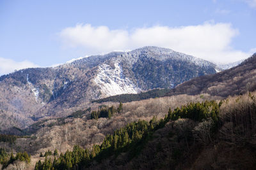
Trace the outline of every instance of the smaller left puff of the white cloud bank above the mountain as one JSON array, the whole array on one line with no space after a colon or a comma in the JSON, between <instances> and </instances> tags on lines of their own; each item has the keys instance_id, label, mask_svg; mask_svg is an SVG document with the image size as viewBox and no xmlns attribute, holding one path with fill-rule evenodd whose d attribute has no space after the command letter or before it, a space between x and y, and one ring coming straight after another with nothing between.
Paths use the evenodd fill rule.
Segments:
<instances>
[{"instance_id":1,"label":"smaller left puff of the white cloud bank above the mountain","mask_svg":"<svg viewBox=\"0 0 256 170\"><path fill-rule=\"evenodd\" d=\"M60 35L67 45L83 45L103 52L122 49L129 40L127 31L109 30L106 26L92 27L90 24L68 27L61 31Z\"/></svg>"}]
</instances>

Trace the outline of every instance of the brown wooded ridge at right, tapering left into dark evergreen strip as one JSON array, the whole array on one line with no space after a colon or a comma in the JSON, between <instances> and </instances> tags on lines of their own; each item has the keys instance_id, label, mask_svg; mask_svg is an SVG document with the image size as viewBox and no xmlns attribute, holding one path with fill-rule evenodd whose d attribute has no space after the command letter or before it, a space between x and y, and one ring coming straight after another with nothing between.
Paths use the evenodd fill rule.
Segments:
<instances>
[{"instance_id":1,"label":"brown wooded ridge at right, tapering left into dark evergreen strip","mask_svg":"<svg viewBox=\"0 0 256 170\"><path fill-rule=\"evenodd\" d=\"M240 61L239 61L240 62ZM236 62L238 64L239 62ZM235 63L233 63L235 64ZM235 64L235 65L236 65ZM227 66L231 66L230 64ZM234 66L234 65L233 65ZM131 102L154 97L175 96L179 94L209 94L211 96L228 97L256 90L256 53L240 64L217 74L193 78L177 85L174 89L154 89L140 94L122 94L97 99L93 103Z\"/></svg>"}]
</instances>

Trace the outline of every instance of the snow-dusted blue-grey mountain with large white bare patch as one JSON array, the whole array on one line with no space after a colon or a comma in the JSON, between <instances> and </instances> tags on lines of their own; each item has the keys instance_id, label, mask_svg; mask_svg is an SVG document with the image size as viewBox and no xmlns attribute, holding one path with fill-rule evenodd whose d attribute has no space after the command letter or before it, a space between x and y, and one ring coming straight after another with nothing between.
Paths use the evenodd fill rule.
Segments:
<instances>
[{"instance_id":1,"label":"snow-dusted blue-grey mountain with large white bare patch","mask_svg":"<svg viewBox=\"0 0 256 170\"><path fill-rule=\"evenodd\" d=\"M216 72L216 64L154 46L86 57L58 67L22 69L0 77L0 130L24 127L45 116L66 116L90 106L93 99L172 89Z\"/></svg>"}]
</instances>

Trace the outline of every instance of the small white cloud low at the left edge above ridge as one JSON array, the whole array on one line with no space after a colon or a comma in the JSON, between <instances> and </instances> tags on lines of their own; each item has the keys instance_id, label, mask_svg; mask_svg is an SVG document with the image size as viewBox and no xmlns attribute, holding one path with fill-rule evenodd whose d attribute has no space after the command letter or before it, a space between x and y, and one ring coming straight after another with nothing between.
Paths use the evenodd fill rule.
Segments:
<instances>
[{"instance_id":1,"label":"small white cloud low at the left edge above ridge","mask_svg":"<svg viewBox=\"0 0 256 170\"><path fill-rule=\"evenodd\" d=\"M24 69L28 67L38 67L38 66L28 60L24 60L22 62L16 62L12 59L4 59L0 57L0 75L12 73L15 70Z\"/></svg>"}]
</instances>

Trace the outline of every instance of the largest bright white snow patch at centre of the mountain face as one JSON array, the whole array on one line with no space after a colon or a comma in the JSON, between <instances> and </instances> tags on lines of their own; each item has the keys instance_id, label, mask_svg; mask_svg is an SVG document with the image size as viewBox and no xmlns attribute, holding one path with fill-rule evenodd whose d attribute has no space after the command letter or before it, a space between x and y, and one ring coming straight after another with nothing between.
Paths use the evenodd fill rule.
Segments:
<instances>
[{"instance_id":1,"label":"largest bright white snow patch at centre of the mountain face","mask_svg":"<svg viewBox=\"0 0 256 170\"><path fill-rule=\"evenodd\" d=\"M99 73L94 79L99 85L101 93L108 96L118 94L137 94L141 89L136 87L129 78L125 78L122 67L115 63L115 69L112 69L108 64L99 66Z\"/></svg>"}]
</instances>

